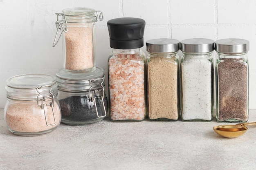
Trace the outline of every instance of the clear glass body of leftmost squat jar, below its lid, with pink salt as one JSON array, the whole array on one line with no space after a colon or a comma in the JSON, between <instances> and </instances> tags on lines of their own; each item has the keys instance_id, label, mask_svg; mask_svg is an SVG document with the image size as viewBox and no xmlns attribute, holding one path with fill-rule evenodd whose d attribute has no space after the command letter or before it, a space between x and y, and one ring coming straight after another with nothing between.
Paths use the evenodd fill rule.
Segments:
<instances>
[{"instance_id":1,"label":"clear glass body of leftmost squat jar, below its lid, with pink salt","mask_svg":"<svg viewBox=\"0 0 256 170\"><path fill-rule=\"evenodd\" d=\"M52 100L45 101L45 103L50 102ZM61 110L57 99L54 99L54 107L45 106L43 109L38 107L37 101L7 99L4 106L4 120L7 128L16 135L42 135L59 126L61 123Z\"/></svg>"}]
</instances>

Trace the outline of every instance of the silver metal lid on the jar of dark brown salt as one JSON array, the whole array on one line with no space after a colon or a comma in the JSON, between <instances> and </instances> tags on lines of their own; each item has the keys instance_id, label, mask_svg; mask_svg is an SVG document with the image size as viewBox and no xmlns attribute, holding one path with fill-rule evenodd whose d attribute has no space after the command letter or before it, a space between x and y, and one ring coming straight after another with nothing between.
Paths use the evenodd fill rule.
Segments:
<instances>
[{"instance_id":1,"label":"silver metal lid on the jar of dark brown salt","mask_svg":"<svg viewBox=\"0 0 256 170\"><path fill-rule=\"evenodd\" d=\"M249 51L249 41L238 38L227 38L215 42L218 53L245 53Z\"/></svg>"}]
</instances>

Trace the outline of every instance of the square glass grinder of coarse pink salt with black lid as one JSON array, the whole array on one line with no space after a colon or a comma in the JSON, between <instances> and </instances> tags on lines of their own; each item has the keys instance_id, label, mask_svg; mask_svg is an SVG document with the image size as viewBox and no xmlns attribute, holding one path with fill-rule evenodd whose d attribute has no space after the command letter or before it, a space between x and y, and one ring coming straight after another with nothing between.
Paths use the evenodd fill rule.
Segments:
<instances>
[{"instance_id":1,"label":"square glass grinder of coarse pink salt with black lid","mask_svg":"<svg viewBox=\"0 0 256 170\"><path fill-rule=\"evenodd\" d=\"M143 120L146 114L145 54L141 51L145 21L116 18L108 21L110 47L108 82L110 118Z\"/></svg>"}]
</instances>

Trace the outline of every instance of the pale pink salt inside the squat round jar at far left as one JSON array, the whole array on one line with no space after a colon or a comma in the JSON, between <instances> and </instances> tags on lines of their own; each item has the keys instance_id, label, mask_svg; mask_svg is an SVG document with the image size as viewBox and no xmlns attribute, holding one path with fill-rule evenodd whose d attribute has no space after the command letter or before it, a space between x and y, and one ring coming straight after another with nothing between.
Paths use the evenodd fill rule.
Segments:
<instances>
[{"instance_id":1,"label":"pale pink salt inside the squat round jar at far left","mask_svg":"<svg viewBox=\"0 0 256 170\"><path fill-rule=\"evenodd\" d=\"M56 124L47 126L44 110L37 104L9 104L6 108L5 121L9 129L16 132L43 132L56 128L61 122L61 111L54 107ZM54 116L50 106L45 107L48 124L54 124Z\"/></svg>"}]
</instances>

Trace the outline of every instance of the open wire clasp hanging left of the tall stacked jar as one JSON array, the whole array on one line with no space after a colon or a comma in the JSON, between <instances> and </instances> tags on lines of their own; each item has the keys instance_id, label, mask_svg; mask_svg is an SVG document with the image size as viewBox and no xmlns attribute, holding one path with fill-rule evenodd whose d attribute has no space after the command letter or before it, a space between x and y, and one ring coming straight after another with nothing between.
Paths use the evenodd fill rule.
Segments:
<instances>
[{"instance_id":1,"label":"open wire clasp hanging left of the tall stacked jar","mask_svg":"<svg viewBox=\"0 0 256 170\"><path fill-rule=\"evenodd\" d=\"M56 46L56 44L58 44L60 38L61 38L61 35L63 33L63 31L66 33L67 32L67 19L66 19L66 16L64 13L55 13L57 15L57 21L55 22L56 24L56 28L57 28L57 32L56 32L56 35L55 35L55 38L54 38L54 42L52 44L53 47ZM63 16L65 22L63 22L63 20L58 20L58 17L59 16ZM65 26L64 26L65 25ZM65 27L65 28L64 28ZM57 40L57 36L58 36L58 33L60 32L60 35L58 37L58 40ZM57 41L56 41L57 40Z\"/></svg>"}]
</instances>

